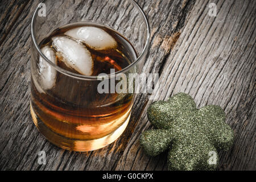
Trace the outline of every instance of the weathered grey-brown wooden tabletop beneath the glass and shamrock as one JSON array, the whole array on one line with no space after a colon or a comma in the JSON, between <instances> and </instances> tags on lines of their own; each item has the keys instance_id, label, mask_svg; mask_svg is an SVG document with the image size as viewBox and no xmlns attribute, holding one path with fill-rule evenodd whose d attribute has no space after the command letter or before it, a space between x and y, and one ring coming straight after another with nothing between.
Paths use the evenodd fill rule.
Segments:
<instances>
[{"instance_id":1,"label":"weathered grey-brown wooden tabletop beneath the glass and shamrock","mask_svg":"<svg viewBox=\"0 0 256 182\"><path fill-rule=\"evenodd\" d=\"M72 152L49 143L30 115L30 22L39 1L0 5L0 169L165 170L167 154L150 158L138 137L151 127L152 101L139 94L125 133L109 146ZM139 0L152 30L144 72L160 74L159 97L189 93L198 107L225 109L234 145L220 152L220 170L256 169L256 1ZM217 16L209 15L216 3ZM38 152L46 151L46 165Z\"/></svg>"}]
</instances>

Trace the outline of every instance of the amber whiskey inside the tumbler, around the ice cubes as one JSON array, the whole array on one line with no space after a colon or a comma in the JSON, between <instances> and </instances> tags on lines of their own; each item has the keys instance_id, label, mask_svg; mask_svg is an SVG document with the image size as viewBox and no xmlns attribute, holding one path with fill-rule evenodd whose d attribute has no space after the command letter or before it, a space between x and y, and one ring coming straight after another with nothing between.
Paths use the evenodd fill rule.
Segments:
<instances>
[{"instance_id":1,"label":"amber whiskey inside the tumbler, around the ice cubes","mask_svg":"<svg viewBox=\"0 0 256 182\"><path fill-rule=\"evenodd\" d=\"M127 39L118 32L97 24L68 24L53 31L41 42L40 46L52 47L51 38L53 36L64 36L66 31L80 26L102 28L117 42L117 47L105 51L96 51L84 45L92 55L94 65L92 76L97 76L100 73L109 74L110 69L115 69L116 72L120 71L135 60L136 53ZM60 57L56 57L59 67L79 74L74 69L67 67ZM81 145L77 147L76 142L57 142L60 140L59 136L67 138L67 141L95 140L106 137L127 121L133 105L133 94L98 93L97 86L100 81L97 80L77 80L77 78L57 72L55 86L44 93L39 92L38 86L36 86L40 85L40 82L35 83L35 79L31 79L31 82L31 112L51 130L51 133L54 133L51 134L51 137L48 136L48 139L68 150L89 151L101 148L100 146L90 148L90 146ZM115 84L117 82L115 81ZM43 135L47 135L46 132L43 131Z\"/></svg>"}]
</instances>

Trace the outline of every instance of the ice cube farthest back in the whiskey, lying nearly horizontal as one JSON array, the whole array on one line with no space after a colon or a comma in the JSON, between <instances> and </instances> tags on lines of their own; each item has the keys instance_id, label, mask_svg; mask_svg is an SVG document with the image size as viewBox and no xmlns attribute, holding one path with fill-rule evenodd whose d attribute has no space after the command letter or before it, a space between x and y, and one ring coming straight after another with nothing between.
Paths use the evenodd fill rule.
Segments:
<instances>
[{"instance_id":1,"label":"ice cube farthest back in the whiskey, lying nearly horizontal","mask_svg":"<svg viewBox=\"0 0 256 182\"><path fill-rule=\"evenodd\" d=\"M117 42L111 35L96 27L73 28L65 32L65 35L80 40L95 50L106 50L117 46Z\"/></svg>"}]
</instances>

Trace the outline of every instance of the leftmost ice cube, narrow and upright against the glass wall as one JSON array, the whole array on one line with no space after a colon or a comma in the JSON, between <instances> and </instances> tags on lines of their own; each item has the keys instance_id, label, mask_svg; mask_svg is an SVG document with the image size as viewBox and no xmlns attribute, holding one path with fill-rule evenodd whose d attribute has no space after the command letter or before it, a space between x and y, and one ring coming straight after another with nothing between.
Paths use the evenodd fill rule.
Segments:
<instances>
[{"instance_id":1,"label":"leftmost ice cube, narrow and upright against the glass wall","mask_svg":"<svg viewBox=\"0 0 256 182\"><path fill-rule=\"evenodd\" d=\"M48 58L52 63L57 64L55 52L49 46L43 47L42 52L44 56ZM56 70L47 63L43 57L40 56L39 58L39 71L41 73L41 81L42 86L44 89L48 90L51 89L55 85L56 81Z\"/></svg>"}]
</instances>

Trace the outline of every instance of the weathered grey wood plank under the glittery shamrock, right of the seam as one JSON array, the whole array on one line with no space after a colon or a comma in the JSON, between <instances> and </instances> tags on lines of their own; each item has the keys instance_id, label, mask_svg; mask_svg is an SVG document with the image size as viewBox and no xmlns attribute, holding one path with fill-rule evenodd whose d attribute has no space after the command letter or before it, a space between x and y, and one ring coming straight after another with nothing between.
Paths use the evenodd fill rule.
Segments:
<instances>
[{"instance_id":1,"label":"weathered grey wood plank under the glittery shamrock, right of the seam","mask_svg":"<svg viewBox=\"0 0 256 182\"><path fill-rule=\"evenodd\" d=\"M236 139L230 151L221 152L220 169L255 169L255 2L218 1L216 18L208 15L208 4L197 1L193 7L164 65L155 100L185 92L199 107L223 107ZM162 44L164 51L166 39L159 42L155 38L153 42ZM167 156L150 158L138 144L139 134L151 127L146 118L151 102L143 110L116 169L162 169L159 160Z\"/></svg>"}]
</instances>

